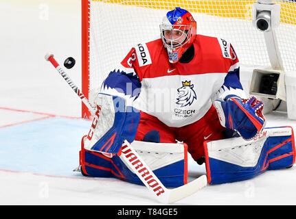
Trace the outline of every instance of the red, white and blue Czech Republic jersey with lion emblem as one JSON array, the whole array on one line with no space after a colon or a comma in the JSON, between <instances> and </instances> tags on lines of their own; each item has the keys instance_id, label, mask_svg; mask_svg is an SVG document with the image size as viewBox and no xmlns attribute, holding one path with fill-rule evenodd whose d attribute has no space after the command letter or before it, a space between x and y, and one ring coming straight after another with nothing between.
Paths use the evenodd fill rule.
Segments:
<instances>
[{"instance_id":1,"label":"red, white and blue Czech Republic jersey with lion emblem","mask_svg":"<svg viewBox=\"0 0 296 219\"><path fill-rule=\"evenodd\" d=\"M244 98L239 61L231 44L221 38L196 35L193 46L190 62L171 64L161 39L137 44L119 70L109 74L102 92L121 92L138 110L168 127L200 120L214 99L234 95Z\"/></svg>"}]
</instances>

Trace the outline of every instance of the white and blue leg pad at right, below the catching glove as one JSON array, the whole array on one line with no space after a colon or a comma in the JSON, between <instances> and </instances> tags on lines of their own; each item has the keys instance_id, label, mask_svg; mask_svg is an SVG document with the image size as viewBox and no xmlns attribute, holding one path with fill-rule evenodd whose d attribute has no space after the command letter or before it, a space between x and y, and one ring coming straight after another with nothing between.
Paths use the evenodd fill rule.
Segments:
<instances>
[{"instance_id":1,"label":"white and blue leg pad at right, below the catching glove","mask_svg":"<svg viewBox=\"0 0 296 219\"><path fill-rule=\"evenodd\" d=\"M204 149L210 184L251 179L266 170L287 168L295 163L292 127L266 128L251 141L230 138L205 142Z\"/></svg>"}]
</instances>

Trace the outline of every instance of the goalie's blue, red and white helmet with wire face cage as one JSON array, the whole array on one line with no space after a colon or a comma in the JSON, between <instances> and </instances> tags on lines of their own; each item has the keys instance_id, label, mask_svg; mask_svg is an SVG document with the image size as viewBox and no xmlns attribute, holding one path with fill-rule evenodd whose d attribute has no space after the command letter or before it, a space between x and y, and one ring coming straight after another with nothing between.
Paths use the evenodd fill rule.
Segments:
<instances>
[{"instance_id":1,"label":"goalie's blue, red and white helmet with wire face cage","mask_svg":"<svg viewBox=\"0 0 296 219\"><path fill-rule=\"evenodd\" d=\"M177 63L195 39L196 21L190 12L177 7L166 14L159 27L169 61Z\"/></svg>"}]
</instances>

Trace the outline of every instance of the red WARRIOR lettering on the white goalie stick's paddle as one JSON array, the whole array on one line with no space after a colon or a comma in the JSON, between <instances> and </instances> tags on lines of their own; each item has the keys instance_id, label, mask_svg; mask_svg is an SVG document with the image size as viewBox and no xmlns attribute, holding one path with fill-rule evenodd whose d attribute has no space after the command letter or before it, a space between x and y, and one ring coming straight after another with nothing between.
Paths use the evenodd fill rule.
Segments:
<instances>
[{"instance_id":1,"label":"red WARRIOR lettering on the white goalie stick's paddle","mask_svg":"<svg viewBox=\"0 0 296 219\"><path fill-rule=\"evenodd\" d=\"M163 188L161 188L161 185L159 185L159 183L153 179L153 176L146 169L146 167L143 166L139 158L128 148L127 144L122 145L122 154L128 159L128 162L133 165L135 171L137 171L146 181L146 183L148 183L148 185L153 188L153 191L155 194L157 194L157 196L165 192Z\"/></svg>"}]
</instances>

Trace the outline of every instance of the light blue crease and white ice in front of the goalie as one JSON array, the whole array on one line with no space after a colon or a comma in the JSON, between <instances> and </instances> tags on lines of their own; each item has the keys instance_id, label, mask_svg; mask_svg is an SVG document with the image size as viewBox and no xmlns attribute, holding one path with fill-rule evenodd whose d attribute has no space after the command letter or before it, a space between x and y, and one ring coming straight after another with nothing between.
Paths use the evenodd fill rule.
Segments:
<instances>
[{"instance_id":1,"label":"light blue crease and white ice in front of the goalie","mask_svg":"<svg viewBox=\"0 0 296 219\"><path fill-rule=\"evenodd\" d=\"M19 112L23 114L23 112ZM14 113L12 113L14 116ZM266 115L272 126L296 121L285 114ZM141 185L118 179L82 177L80 140L88 120L50 117L0 129L1 205L159 205ZM208 185L176 205L295 204L295 167L264 172L247 181ZM190 180L205 174L190 157Z\"/></svg>"}]
</instances>

